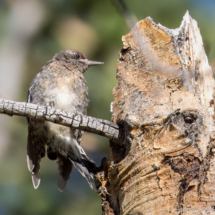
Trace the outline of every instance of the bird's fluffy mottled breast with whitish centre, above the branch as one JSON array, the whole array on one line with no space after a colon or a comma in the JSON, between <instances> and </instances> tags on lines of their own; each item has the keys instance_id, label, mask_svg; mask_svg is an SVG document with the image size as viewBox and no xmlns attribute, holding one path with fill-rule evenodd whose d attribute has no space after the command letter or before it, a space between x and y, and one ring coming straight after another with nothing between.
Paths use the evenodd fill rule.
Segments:
<instances>
[{"instance_id":1,"label":"bird's fluffy mottled breast with whitish centre, above the branch","mask_svg":"<svg viewBox=\"0 0 215 215\"><path fill-rule=\"evenodd\" d=\"M70 112L86 114L88 88L84 76L75 68L52 62L37 74L37 81L30 88L33 103L39 102ZM39 97L39 98L35 98Z\"/></svg>"}]
</instances>

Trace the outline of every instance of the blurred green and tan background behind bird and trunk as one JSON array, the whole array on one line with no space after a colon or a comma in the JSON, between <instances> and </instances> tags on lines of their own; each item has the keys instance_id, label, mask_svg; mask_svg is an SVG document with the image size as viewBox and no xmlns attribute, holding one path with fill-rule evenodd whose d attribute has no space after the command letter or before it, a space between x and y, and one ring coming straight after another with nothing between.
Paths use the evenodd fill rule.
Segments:
<instances>
[{"instance_id":1,"label":"blurred green and tan background behind bird and trunk","mask_svg":"<svg viewBox=\"0 0 215 215\"><path fill-rule=\"evenodd\" d=\"M212 66L215 65L214 0L125 0L138 20L178 28L186 10L197 20ZM39 69L62 49L77 49L88 59L104 61L85 74L89 87L88 115L111 119L112 89L121 37L129 32L110 0L0 0L0 98L26 101ZM57 189L57 168L42 160L41 185L35 190L26 164L27 122L0 116L0 215L101 214L100 197L73 170L64 192ZM100 165L109 159L105 138L85 134L82 146Z\"/></svg>"}]
</instances>

